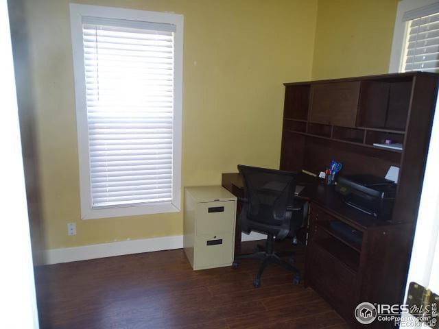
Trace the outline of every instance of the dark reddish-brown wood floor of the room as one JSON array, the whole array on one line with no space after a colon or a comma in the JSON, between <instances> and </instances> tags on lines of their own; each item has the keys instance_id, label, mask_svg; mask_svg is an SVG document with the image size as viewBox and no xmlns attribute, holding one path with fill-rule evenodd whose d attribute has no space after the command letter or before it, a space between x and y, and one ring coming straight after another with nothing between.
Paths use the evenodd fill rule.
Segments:
<instances>
[{"instance_id":1,"label":"dark reddish-brown wood floor of the room","mask_svg":"<svg viewBox=\"0 0 439 329\"><path fill-rule=\"evenodd\" d=\"M251 252L254 242L243 243ZM283 244L285 245L285 243ZM296 265L304 254L298 248ZM192 271L182 249L36 269L41 328L348 328L312 289L259 263Z\"/></svg>"}]
</instances>

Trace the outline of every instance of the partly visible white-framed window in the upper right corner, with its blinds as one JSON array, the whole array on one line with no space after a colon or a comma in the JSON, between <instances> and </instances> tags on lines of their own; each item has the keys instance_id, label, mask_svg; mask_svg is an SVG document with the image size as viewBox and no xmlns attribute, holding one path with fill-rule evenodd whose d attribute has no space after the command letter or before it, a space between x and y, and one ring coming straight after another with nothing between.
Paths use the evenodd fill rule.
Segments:
<instances>
[{"instance_id":1,"label":"partly visible white-framed window in the upper right corner, with its blinds","mask_svg":"<svg viewBox=\"0 0 439 329\"><path fill-rule=\"evenodd\" d=\"M400 1L390 72L439 72L439 1Z\"/></svg>"}]
</instances>

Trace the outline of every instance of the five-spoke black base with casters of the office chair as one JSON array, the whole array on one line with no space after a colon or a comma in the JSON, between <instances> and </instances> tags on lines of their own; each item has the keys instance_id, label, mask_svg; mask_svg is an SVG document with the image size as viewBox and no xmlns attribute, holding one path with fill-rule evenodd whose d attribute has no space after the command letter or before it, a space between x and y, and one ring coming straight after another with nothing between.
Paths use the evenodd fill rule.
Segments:
<instances>
[{"instance_id":1,"label":"five-spoke black base with casters of the office chair","mask_svg":"<svg viewBox=\"0 0 439 329\"><path fill-rule=\"evenodd\" d=\"M284 269L287 269L288 271L292 271L295 274L295 276L293 278L293 282L295 284L300 283L300 271L298 269L296 269L296 267L294 267L293 265L285 262L285 260L282 260L278 256L278 254L274 252L274 250L273 250L273 243L274 243L274 238L270 234L267 237L265 251L259 251L259 252L254 252L253 254L244 254L244 255L236 256L235 260L233 260L233 267L238 267L238 261L241 260L241 259L257 259L257 260L261 260L262 263L259 266L259 271L257 273L256 278L253 281L253 285L256 288L261 287L261 276L262 276L263 270L270 263L271 264L276 264L276 265L278 265L280 267L283 267ZM260 249L260 247L258 249Z\"/></svg>"}]
</instances>

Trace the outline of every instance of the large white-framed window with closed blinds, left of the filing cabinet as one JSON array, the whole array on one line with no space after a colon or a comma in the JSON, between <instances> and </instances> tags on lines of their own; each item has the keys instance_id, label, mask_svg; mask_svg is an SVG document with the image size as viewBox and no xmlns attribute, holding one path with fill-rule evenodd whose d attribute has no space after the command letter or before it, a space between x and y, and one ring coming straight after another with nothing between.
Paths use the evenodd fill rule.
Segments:
<instances>
[{"instance_id":1,"label":"large white-framed window with closed blinds, left of the filing cabinet","mask_svg":"<svg viewBox=\"0 0 439 329\"><path fill-rule=\"evenodd\" d=\"M70 13L82 219L180 210L182 16Z\"/></svg>"}]
</instances>

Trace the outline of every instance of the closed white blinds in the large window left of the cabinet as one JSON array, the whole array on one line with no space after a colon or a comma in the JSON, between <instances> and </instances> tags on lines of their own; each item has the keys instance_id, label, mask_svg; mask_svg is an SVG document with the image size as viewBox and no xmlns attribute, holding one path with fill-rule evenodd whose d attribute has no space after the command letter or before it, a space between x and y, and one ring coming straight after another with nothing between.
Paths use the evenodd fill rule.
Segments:
<instances>
[{"instance_id":1,"label":"closed white blinds in the large window left of the cabinet","mask_svg":"<svg viewBox=\"0 0 439 329\"><path fill-rule=\"evenodd\" d=\"M82 17L92 208L171 202L174 32Z\"/></svg>"}]
</instances>

